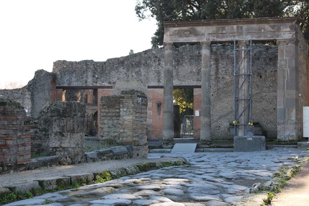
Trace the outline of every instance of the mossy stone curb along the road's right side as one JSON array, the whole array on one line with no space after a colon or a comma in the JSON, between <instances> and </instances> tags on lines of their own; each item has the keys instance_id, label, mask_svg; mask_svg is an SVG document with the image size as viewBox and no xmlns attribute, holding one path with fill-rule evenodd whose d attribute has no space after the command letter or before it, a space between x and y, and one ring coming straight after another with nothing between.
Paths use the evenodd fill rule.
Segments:
<instances>
[{"instance_id":1,"label":"mossy stone curb along the road's right side","mask_svg":"<svg viewBox=\"0 0 309 206\"><path fill-rule=\"evenodd\" d=\"M273 173L273 178L263 185L256 183L250 188L250 192L241 200L232 203L232 206L265 206L265 202L270 202L273 198L273 193L278 193L287 184L286 180L290 180L299 171L303 164L309 162L309 157L300 157L294 165L281 166ZM259 193L254 193L259 192Z\"/></svg>"}]
</instances>

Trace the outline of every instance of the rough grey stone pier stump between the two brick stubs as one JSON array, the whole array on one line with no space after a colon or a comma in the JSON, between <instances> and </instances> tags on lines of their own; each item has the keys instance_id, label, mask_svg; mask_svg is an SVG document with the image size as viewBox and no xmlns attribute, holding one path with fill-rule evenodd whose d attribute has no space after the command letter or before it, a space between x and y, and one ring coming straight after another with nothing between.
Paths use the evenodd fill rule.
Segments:
<instances>
[{"instance_id":1,"label":"rough grey stone pier stump between the two brick stubs","mask_svg":"<svg viewBox=\"0 0 309 206\"><path fill-rule=\"evenodd\" d=\"M57 155L60 164L84 162L85 106L79 102L56 102L39 115L39 128L47 141L45 151Z\"/></svg>"}]
</instances>

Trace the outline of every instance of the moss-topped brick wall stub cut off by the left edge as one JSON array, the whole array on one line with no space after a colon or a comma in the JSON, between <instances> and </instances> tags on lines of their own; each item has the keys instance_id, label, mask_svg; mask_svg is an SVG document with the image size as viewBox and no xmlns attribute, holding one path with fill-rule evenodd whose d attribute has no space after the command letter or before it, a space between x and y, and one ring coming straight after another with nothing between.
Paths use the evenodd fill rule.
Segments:
<instances>
[{"instance_id":1,"label":"moss-topped brick wall stub cut off by the left edge","mask_svg":"<svg viewBox=\"0 0 309 206\"><path fill-rule=\"evenodd\" d=\"M24 108L0 98L0 167L23 170L31 159L30 120Z\"/></svg>"}]
</instances>

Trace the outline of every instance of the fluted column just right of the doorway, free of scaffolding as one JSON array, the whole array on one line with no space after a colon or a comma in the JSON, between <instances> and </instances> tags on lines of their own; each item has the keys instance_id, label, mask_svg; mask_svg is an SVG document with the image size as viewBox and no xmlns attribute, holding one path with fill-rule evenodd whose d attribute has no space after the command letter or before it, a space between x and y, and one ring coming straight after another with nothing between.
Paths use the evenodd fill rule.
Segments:
<instances>
[{"instance_id":1,"label":"fluted column just right of the doorway, free of scaffolding","mask_svg":"<svg viewBox=\"0 0 309 206\"><path fill-rule=\"evenodd\" d=\"M201 42L202 45L202 103L201 103L201 144L211 144L211 116L210 116L210 41Z\"/></svg>"}]
</instances>

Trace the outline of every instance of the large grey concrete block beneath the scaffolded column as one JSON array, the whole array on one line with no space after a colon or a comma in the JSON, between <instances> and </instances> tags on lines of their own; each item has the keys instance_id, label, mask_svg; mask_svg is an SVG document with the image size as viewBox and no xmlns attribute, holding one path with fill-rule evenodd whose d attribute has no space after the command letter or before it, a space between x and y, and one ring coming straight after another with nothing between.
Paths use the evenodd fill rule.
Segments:
<instances>
[{"instance_id":1,"label":"large grey concrete block beneath the scaffolded column","mask_svg":"<svg viewBox=\"0 0 309 206\"><path fill-rule=\"evenodd\" d=\"M234 137L234 152L263 152L265 148L265 136Z\"/></svg>"}]
</instances>

